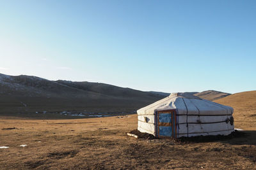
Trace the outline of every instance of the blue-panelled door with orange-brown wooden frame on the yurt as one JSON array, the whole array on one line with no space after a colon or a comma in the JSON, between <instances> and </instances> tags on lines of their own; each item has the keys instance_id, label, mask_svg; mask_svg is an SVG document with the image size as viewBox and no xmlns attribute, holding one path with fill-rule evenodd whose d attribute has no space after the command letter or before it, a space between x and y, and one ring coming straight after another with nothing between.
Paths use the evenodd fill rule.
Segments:
<instances>
[{"instance_id":1,"label":"blue-panelled door with orange-brown wooden frame on the yurt","mask_svg":"<svg viewBox=\"0 0 256 170\"><path fill-rule=\"evenodd\" d=\"M171 137L175 138L176 110L157 111L156 132L159 138Z\"/></svg>"}]
</instances>

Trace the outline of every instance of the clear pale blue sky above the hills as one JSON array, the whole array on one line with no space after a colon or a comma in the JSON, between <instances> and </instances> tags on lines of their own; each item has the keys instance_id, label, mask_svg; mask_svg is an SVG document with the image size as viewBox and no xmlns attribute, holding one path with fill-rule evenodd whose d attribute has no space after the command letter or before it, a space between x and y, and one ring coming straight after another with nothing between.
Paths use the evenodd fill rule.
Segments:
<instances>
[{"instance_id":1,"label":"clear pale blue sky above the hills","mask_svg":"<svg viewBox=\"0 0 256 170\"><path fill-rule=\"evenodd\" d=\"M256 1L0 1L0 73L256 90Z\"/></svg>"}]
</instances>

